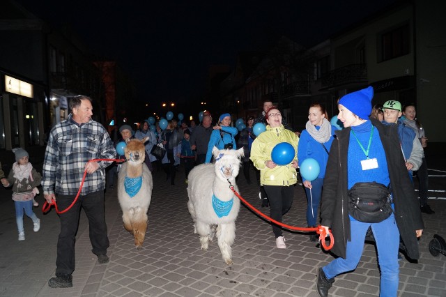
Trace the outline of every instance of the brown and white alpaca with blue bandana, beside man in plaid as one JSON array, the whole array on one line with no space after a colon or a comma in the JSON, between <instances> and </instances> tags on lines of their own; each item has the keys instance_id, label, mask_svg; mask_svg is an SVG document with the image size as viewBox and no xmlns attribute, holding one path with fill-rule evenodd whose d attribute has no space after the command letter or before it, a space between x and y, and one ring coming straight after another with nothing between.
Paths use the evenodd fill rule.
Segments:
<instances>
[{"instance_id":1,"label":"brown and white alpaca with blue bandana, beside man in plaid","mask_svg":"<svg viewBox=\"0 0 446 297\"><path fill-rule=\"evenodd\" d=\"M147 230L147 211L151 204L153 180L150 170L144 163L146 157L144 142L127 140L125 162L118 174L118 200L123 211L124 228L133 234L134 245L140 250Z\"/></svg>"}]
</instances>

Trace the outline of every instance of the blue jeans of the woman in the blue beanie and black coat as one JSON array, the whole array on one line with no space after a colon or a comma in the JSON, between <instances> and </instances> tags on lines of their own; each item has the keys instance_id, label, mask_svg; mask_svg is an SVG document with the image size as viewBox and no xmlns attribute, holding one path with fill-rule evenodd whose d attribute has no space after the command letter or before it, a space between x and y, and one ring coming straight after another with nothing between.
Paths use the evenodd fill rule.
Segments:
<instances>
[{"instance_id":1,"label":"blue jeans of the woman in the blue beanie and black coat","mask_svg":"<svg viewBox=\"0 0 446 297\"><path fill-rule=\"evenodd\" d=\"M335 277L340 273L355 270L359 263L367 229L371 227L374 232L376 249L378 250L378 264L381 271L380 297L397 296L399 282L399 230L394 215L379 223L364 223L350 218L351 241L347 241L347 257L334 259L323 272L327 278Z\"/></svg>"}]
</instances>

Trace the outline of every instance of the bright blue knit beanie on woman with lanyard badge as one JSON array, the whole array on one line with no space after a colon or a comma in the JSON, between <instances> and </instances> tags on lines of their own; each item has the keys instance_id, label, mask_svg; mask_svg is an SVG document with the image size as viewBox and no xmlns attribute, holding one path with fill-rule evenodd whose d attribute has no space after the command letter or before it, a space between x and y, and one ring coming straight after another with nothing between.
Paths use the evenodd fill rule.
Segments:
<instances>
[{"instance_id":1,"label":"bright blue knit beanie on woman with lanyard badge","mask_svg":"<svg viewBox=\"0 0 446 297\"><path fill-rule=\"evenodd\" d=\"M369 86L367 89L355 91L343 96L339 104L344 105L348 110L367 120L371 114L371 99L374 98L374 88Z\"/></svg>"}]
</instances>

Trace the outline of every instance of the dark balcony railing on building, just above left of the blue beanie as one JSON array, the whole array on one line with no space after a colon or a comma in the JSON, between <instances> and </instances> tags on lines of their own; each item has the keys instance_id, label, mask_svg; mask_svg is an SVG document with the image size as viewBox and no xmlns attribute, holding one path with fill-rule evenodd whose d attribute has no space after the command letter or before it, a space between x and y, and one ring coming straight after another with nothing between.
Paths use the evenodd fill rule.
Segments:
<instances>
[{"instance_id":1,"label":"dark balcony railing on building, just above left of the blue beanie","mask_svg":"<svg viewBox=\"0 0 446 297\"><path fill-rule=\"evenodd\" d=\"M355 82L367 82L367 65L352 64L329 71L321 77L323 88L351 84Z\"/></svg>"}]
</instances>

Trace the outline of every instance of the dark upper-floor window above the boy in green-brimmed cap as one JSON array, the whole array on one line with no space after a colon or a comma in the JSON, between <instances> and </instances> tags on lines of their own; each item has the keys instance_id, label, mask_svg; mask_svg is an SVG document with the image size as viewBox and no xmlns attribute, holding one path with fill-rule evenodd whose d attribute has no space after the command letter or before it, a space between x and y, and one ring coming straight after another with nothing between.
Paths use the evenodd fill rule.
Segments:
<instances>
[{"instance_id":1,"label":"dark upper-floor window above the boy in green-brimmed cap","mask_svg":"<svg viewBox=\"0 0 446 297\"><path fill-rule=\"evenodd\" d=\"M378 62L387 61L409 53L409 25L405 24L381 33L378 37Z\"/></svg>"}]
</instances>

